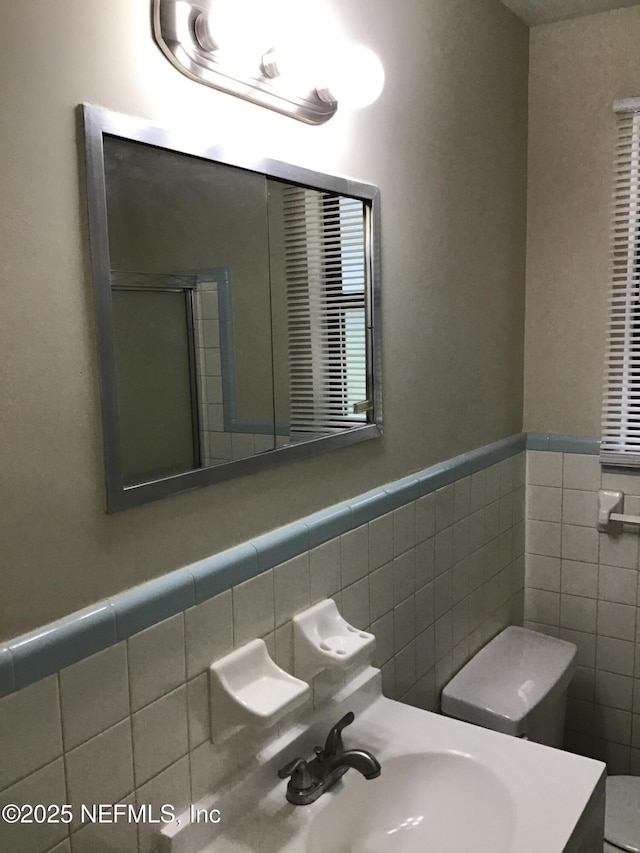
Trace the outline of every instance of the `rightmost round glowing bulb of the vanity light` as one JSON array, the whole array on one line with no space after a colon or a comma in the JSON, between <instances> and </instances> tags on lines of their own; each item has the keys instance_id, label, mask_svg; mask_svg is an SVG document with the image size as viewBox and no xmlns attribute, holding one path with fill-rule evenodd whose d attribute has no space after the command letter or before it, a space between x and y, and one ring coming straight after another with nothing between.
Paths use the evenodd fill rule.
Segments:
<instances>
[{"instance_id":1,"label":"rightmost round glowing bulb of the vanity light","mask_svg":"<svg viewBox=\"0 0 640 853\"><path fill-rule=\"evenodd\" d=\"M345 45L337 51L331 69L316 87L323 101L343 107L372 104L384 88L384 68L376 54L361 44Z\"/></svg>"}]
</instances>

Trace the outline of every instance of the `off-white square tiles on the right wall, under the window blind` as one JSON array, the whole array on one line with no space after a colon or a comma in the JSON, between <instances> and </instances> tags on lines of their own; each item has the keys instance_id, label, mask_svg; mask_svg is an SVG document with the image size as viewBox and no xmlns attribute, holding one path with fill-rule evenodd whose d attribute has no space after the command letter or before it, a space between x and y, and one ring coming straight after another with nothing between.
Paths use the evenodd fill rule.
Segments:
<instances>
[{"instance_id":1,"label":"off-white square tiles on the right wall, under the window blind","mask_svg":"<svg viewBox=\"0 0 640 853\"><path fill-rule=\"evenodd\" d=\"M601 473L591 454L527 451L525 625L571 640L566 747L640 774L638 528L596 527L598 489L640 514L640 477Z\"/></svg>"}]
</instances>

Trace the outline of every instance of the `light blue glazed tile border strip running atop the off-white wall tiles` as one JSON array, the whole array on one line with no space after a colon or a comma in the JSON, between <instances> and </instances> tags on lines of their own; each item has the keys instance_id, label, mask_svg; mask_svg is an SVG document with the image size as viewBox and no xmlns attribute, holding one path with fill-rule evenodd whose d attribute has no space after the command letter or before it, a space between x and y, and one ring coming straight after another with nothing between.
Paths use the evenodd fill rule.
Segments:
<instances>
[{"instance_id":1,"label":"light blue glazed tile border strip running atop the off-white wall tiles","mask_svg":"<svg viewBox=\"0 0 640 853\"><path fill-rule=\"evenodd\" d=\"M96 654L280 563L526 448L597 453L595 439L515 435L358 495L0 646L0 696ZM535 446L534 446L535 445ZM578 449L579 448L579 449Z\"/></svg>"}]
</instances>

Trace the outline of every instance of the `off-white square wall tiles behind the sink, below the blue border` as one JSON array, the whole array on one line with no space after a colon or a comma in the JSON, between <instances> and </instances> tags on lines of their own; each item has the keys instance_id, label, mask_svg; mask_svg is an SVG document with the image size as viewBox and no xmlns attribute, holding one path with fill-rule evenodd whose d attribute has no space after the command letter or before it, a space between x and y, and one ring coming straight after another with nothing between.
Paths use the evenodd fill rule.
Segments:
<instances>
[{"instance_id":1,"label":"off-white square wall tiles behind the sink, below the blue border","mask_svg":"<svg viewBox=\"0 0 640 853\"><path fill-rule=\"evenodd\" d=\"M328 596L376 635L385 693L437 708L451 675L503 627L522 623L524 515L520 452L10 693L0 699L0 806L179 811L215 791L259 740L241 732L210 743L209 663L263 637L291 671L291 617ZM313 702L339 683L317 676ZM0 823L0 849L149 853L155 829Z\"/></svg>"}]
</instances>

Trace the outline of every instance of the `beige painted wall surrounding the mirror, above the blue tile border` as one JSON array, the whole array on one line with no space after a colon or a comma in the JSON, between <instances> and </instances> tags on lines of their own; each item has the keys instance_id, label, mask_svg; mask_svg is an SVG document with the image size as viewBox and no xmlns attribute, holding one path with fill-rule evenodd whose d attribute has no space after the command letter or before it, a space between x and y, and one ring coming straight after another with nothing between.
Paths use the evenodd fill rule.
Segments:
<instances>
[{"instance_id":1,"label":"beige painted wall surrounding the mirror, above the blue tile border","mask_svg":"<svg viewBox=\"0 0 640 853\"><path fill-rule=\"evenodd\" d=\"M497 0L333 0L380 100L315 128L189 81L148 0L0 5L0 638L521 428L527 49ZM80 102L378 184L384 438L113 516Z\"/></svg>"}]
</instances>

